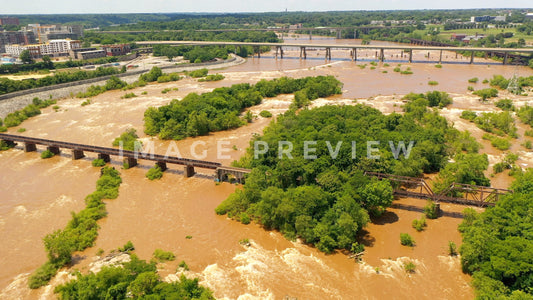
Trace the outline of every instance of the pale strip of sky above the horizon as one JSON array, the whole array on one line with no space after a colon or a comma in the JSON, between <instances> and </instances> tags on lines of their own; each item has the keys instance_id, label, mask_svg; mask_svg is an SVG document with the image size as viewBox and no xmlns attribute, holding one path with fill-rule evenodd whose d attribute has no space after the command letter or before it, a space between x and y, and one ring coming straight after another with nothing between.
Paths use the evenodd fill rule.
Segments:
<instances>
[{"instance_id":1,"label":"pale strip of sky above the horizon","mask_svg":"<svg viewBox=\"0 0 533 300\"><path fill-rule=\"evenodd\" d=\"M468 8L532 8L531 0L4 0L2 14L279 12L334 10L409 10Z\"/></svg>"}]
</instances>

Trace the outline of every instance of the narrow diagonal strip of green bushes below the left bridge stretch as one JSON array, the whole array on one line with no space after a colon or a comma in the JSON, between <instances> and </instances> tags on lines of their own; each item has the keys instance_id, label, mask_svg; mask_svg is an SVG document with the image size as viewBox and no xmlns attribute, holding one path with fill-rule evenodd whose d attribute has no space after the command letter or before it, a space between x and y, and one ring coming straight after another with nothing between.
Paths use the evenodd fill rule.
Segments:
<instances>
[{"instance_id":1,"label":"narrow diagonal strip of green bushes below the left bridge stretch","mask_svg":"<svg viewBox=\"0 0 533 300\"><path fill-rule=\"evenodd\" d=\"M32 289L48 284L59 268L72 261L72 253L91 247L98 236L97 221L106 215L104 199L118 197L122 182L120 173L114 168L102 169L96 181L96 191L85 198L86 207L78 213L72 212L72 219L65 229L58 229L44 237L48 261L39 267L29 278Z\"/></svg>"}]
</instances>

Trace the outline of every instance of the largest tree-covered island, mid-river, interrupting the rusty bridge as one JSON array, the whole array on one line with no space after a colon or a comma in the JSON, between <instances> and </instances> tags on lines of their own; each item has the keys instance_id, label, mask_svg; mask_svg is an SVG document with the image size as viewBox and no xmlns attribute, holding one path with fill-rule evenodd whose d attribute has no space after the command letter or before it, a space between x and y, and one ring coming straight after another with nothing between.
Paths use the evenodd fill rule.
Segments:
<instances>
[{"instance_id":1,"label":"largest tree-covered island, mid-river, interrupting the rusty bridge","mask_svg":"<svg viewBox=\"0 0 533 300\"><path fill-rule=\"evenodd\" d=\"M230 195L216 213L236 220L249 217L327 253L349 250L370 216L379 216L393 199L388 181L371 179L364 171L418 176L446 165L451 148L446 140L455 131L423 100L423 104L413 103L413 110L405 115L385 116L357 105L298 113L292 109L278 116L235 164L252 169L244 189ZM369 140L381 141L376 145L380 159L367 157ZM292 159L279 157L279 141L293 143ZM303 141L316 141L312 145L316 151L311 153L315 158L305 159ZM399 141L416 143L405 158L391 151L388 141L394 145ZM352 142L357 145L355 150ZM266 147L264 153L255 156L254 143Z\"/></svg>"}]
</instances>

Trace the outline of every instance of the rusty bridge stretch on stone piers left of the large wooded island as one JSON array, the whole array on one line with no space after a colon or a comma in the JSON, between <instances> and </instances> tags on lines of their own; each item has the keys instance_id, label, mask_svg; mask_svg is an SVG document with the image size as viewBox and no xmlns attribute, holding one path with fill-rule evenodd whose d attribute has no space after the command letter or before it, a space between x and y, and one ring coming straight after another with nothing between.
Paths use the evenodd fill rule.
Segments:
<instances>
[{"instance_id":1,"label":"rusty bridge stretch on stone piers left of the large wooded island","mask_svg":"<svg viewBox=\"0 0 533 300\"><path fill-rule=\"evenodd\" d=\"M237 181L242 182L244 181L245 174L250 173L250 170L248 169L226 167L218 162L166 156L142 151L129 151L117 148L76 144L5 133L0 133L0 140L5 141L7 144L12 146L14 146L17 142L22 143L25 152L36 151L37 145L46 146L46 149L54 154L61 153L61 149L69 149L72 151L73 160L85 157L85 152L96 153L98 154L98 158L104 160L105 162L110 162L111 156L118 156L123 158L124 164L127 164L129 168L136 166L139 159L155 161L163 171L167 170L167 164L182 165L184 166L185 177L193 176L195 174L194 168L202 168L215 170L215 175L219 180L227 179L228 174L230 174L234 176Z\"/></svg>"}]
</instances>

